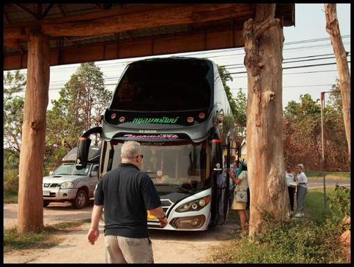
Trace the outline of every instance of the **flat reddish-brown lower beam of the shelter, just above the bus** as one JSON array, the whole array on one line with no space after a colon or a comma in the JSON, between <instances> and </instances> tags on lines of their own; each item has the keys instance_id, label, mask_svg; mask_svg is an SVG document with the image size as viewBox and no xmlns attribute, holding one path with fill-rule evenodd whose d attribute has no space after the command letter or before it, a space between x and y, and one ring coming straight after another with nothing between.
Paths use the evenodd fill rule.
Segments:
<instances>
[{"instance_id":1,"label":"flat reddish-brown lower beam of the shelter, just above the bus","mask_svg":"<svg viewBox=\"0 0 354 267\"><path fill-rule=\"evenodd\" d=\"M58 49L51 49L51 66L73 64L88 61L114 60L117 58L137 58L149 55L165 55L192 51L213 49L229 49L244 46L242 30L222 31L215 33L198 33L190 35L181 33L161 37L146 37L139 40L126 40L86 46L72 46L63 48L60 54ZM6 54L3 70L26 68L27 55L19 53Z\"/></svg>"}]
</instances>

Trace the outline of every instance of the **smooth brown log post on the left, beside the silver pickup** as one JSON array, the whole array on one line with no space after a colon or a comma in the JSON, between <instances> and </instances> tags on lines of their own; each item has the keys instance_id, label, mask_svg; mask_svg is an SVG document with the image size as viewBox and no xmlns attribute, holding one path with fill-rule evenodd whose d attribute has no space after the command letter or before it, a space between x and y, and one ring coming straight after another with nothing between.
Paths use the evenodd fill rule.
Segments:
<instances>
[{"instance_id":1,"label":"smooth brown log post on the left, beside the silver pickup","mask_svg":"<svg viewBox=\"0 0 354 267\"><path fill-rule=\"evenodd\" d=\"M43 159L49 89L49 38L28 28L28 68L19 160L17 231L43 229Z\"/></svg>"}]
</instances>

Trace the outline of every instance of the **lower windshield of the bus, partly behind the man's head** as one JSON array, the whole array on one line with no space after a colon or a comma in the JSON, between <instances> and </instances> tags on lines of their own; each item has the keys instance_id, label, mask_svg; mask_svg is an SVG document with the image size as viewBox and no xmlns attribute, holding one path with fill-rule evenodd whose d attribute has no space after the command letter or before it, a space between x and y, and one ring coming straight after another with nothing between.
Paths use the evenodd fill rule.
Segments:
<instances>
[{"instance_id":1,"label":"lower windshield of the bus, partly behind the man's head","mask_svg":"<svg viewBox=\"0 0 354 267\"><path fill-rule=\"evenodd\" d=\"M103 146L101 164L104 173L121 163L123 141L112 140ZM210 154L207 141L142 142L143 171L158 187L158 191L189 191L202 189L211 183ZM114 152L113 152L114 151ZM158 186L158 185L171 185Z\"/></svg>"}]
</instances>

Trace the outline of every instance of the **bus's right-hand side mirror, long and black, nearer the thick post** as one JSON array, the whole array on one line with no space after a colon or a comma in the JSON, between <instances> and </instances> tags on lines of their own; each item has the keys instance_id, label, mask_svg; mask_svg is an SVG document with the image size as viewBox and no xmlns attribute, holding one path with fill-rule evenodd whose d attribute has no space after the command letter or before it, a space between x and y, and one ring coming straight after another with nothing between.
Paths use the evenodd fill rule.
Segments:
<instances>
[{"instance_id":1,"label":"bus's right-hand side mirror, long and black, nearer the thick post","mask_svg":"<svg viewBox=\"0 0 354 267\"><path fill-rule=\"evenodd\" d=\"M214 175L220 175L223 172L223 148L219 129L214 127L211 136L211 166Z\"/></svg>"}]
</instances>

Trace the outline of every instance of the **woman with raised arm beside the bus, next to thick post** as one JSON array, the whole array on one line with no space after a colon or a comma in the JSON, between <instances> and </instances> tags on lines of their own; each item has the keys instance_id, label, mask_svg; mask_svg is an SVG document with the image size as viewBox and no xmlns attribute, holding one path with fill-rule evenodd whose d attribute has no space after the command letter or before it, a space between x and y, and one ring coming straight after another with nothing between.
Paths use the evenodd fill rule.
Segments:
<instances>
[{"instance_id":1,"label":"woman with raised arm beside the bus, next to thick post","mask_svg":"<svg viewBox=\"0 0 354 267\"><path fill-rule=\"evenodd\" d=\"M228 173L230 173L230 178L233 179L233 181L236 184L235 191L247 191L247 162L246 159L244 159L243 164L239 167L239 175L235 177L235 174L231 169L228 169ZM247 196L247 195L246 195ZM248 224L249 224L249 217L246 212L246 202L236 202L235 198L233 200L233 205L231 206L231 209L237 209L237 212L239 214L239 220L241 221L241 228L242 232L241 234L246 234L248 231Z\"/></svg>"}]
</instances>

